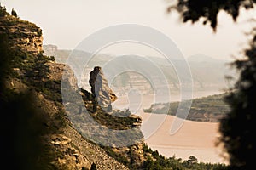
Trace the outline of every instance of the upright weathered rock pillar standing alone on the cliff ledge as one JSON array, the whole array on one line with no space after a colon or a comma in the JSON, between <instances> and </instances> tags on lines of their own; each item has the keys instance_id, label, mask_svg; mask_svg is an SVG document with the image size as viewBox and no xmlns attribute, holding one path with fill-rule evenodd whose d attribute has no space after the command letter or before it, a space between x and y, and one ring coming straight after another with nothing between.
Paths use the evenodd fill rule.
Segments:
<instances>
[{"instance_id":1,"label":"upright weathered rock pillar standing alone on the cliff ledge","mask_svg":"<svg viewBox=\"0 0 256 170\"><path fill-rule=\"evenodd\" d=\"M96 96L98 105L102 108L111 107L111 103L117 99L117 96L108 87L108 80L104 77L101 67L96 66L93 71L90 71L89 83L91 93Z\"/></svg>"}]
</instances>

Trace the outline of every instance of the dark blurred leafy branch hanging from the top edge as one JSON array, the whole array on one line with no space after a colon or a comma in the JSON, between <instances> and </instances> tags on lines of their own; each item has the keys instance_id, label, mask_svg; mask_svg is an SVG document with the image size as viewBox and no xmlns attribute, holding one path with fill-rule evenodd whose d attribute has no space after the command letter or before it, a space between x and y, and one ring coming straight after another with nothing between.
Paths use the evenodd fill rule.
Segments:
<instances>
[{"instance_id":1,"label":"dark blurred leafy branch hanging from the top edge","mask_svg":"<svg viewBox=\"0 0 256 170\"><path fill-rule=\"evenodd\" d=\"M204 25L210 22L212 29L216 31L217 16L221 10L230 14L236 21L241 8L252 9L253 3L256 3L256 0L178 0L177 4L167 8L167 12L177 10L182 15L183 22L190 20L195 23L202 18Z\"/></svg>"}]
</instances>

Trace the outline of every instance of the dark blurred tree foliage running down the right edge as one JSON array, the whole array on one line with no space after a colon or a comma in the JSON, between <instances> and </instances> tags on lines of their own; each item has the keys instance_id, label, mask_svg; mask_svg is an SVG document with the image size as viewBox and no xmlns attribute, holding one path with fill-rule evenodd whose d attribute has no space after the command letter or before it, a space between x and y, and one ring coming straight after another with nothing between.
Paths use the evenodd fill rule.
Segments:
<instances>
[{"instance_id":1,"label":"dark blurred tree foliage running down the right edge","mask_svg":"<svg viewBox=\"0 0 256 170\"><path fill-rule=\"evenodd\" d=\"M221 121L219 130L221 140L230 154L230 164L235 167L250 167L254 164L253 154L256 149L256 138L253 129L256 122L256 30L245 50L246 58L236 60L234 65L241 71L235 91L226 98L231 111Z\"/></svg>"}]
</instances>

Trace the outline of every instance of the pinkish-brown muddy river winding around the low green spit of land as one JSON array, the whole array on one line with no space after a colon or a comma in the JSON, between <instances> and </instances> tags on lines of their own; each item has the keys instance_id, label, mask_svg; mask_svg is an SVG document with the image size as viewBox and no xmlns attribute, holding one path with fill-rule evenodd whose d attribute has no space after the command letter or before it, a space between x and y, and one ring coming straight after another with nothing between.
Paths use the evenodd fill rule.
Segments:
<instances>
[{"instance_id":1,"label":"pinkish-brown muddy river winding around the low green spit of land","mask_svg":"<svg viewBox=\"0 0 256 170\"><path fill-rule=\"evenodd\" d=\"M193 93L193 98L201 98L212 94L220 94L221 91L198 91ZM180 100L179 94L172 94L170 101ZM159 102L168 102L158 99ZM145 142L153 150L158 150L163 156L176 156L187 160L189 156L195 156L198 161L212 163L227 163L222 155L224 151L218 142L218 123L184 121L177 133L171 134L170 128L176 116L166 116L144 113L143 109L149 108L156 102L154 95L141 95L137 91L128 92L119 97L113 103L113 108L125 110L142 116L142 132Z\"/></svg>"}]
</instances>

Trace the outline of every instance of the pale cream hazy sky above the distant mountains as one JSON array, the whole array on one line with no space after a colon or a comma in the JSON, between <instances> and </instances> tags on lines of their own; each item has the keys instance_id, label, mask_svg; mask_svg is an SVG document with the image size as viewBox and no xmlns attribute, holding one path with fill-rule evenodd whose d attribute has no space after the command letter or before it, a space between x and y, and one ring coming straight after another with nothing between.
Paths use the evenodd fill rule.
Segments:
<instances>
[{"instance_id":1,"label":"pale cream hazy sky above the distant mountains","mask_svg":"<svg viewBox=\"0 0 256 170\"><path fill-rule=\"evenodd\" d=\"M55 44L58 48L73 49L85 37L107 26L122 23L142 24L162 31L188 57L193 54L207 54L214 58L228 59L241 51L249 31L250 18L256 12L242 12L237 23L230 16L219 14L216 34L209 26L183 24L176 13L166 14L165 0L0 0L10 12L15 8L23 20L29 20L43 29L44 44ZM127 44L126 44L127 45ZM143 54L154 55L154 50L134 47ZM124 47L124 46L123 46ZM126 46L125 46L126 47ZM131 50L131 47L125 50ZM137 49L135 49L137 48ZM106 49L114 53L117 48ZM131 50L131 51L132 51Z\"/></svg>"}]
</instances>

